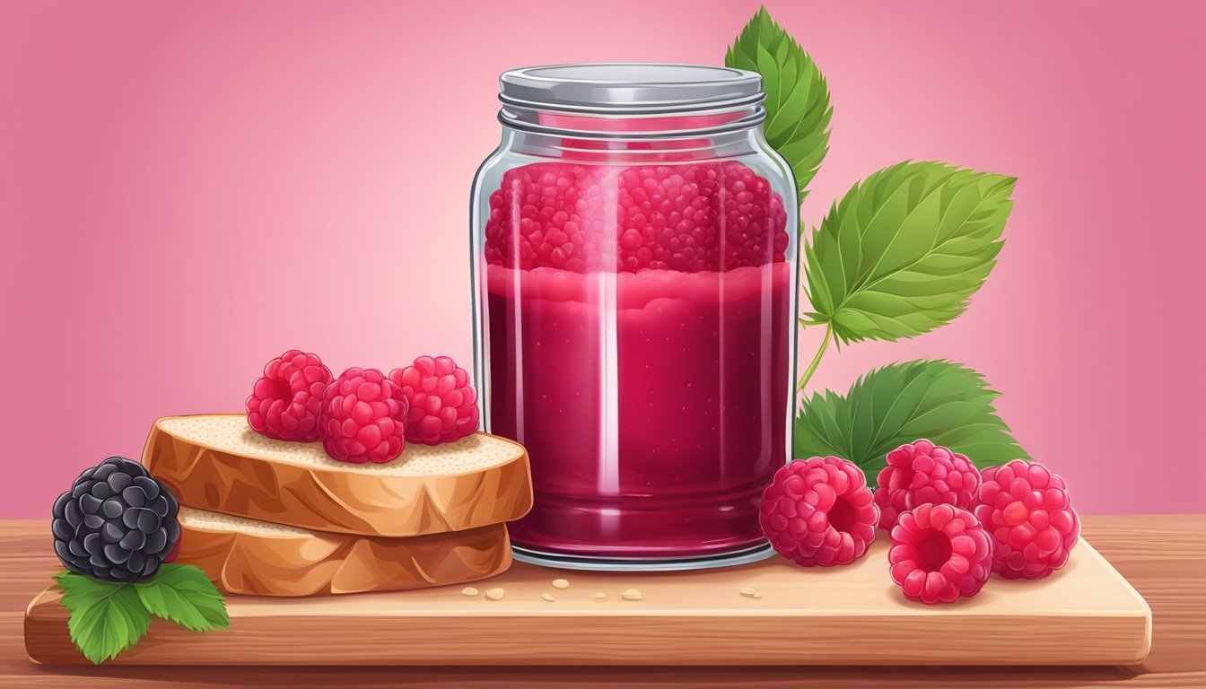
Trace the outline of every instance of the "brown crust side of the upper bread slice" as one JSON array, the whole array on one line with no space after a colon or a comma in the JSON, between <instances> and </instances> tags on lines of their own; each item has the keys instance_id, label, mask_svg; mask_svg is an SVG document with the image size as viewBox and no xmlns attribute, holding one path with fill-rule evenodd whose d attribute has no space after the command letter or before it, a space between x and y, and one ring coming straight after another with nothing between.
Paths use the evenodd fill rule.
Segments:
<instances>
[{"instance_id":1,"label":"brown crust side of the upper bread slice","mask_svg":"<svg viewBox=\"0 0 1206 689\"><path fill-rule=\"evenodd\" d=\"M385 475L218 450L156 421L142 463L182 504L315 531L411 537L513 521L532 507L527 451L487 469Z\"/></svg>"}]
</instances>

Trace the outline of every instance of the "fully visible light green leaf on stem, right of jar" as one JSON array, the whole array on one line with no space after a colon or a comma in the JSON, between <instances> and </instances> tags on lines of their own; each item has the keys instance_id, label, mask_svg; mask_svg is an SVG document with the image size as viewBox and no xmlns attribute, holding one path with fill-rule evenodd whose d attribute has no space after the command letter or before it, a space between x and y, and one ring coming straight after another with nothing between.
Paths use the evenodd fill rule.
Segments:
<instances>
[{"instance_id":1,"label":"fully visible light green leaf on stem, right of jar","mask_svg":"<svg viewBox=\"0 0 1206 689\"><path fill-rule=\"evenodd\" d=\"M804 249L809 321L842 343L950 322L996 264L1015 181L906 162L855 185Z\"/></svg>"}]
</instances>

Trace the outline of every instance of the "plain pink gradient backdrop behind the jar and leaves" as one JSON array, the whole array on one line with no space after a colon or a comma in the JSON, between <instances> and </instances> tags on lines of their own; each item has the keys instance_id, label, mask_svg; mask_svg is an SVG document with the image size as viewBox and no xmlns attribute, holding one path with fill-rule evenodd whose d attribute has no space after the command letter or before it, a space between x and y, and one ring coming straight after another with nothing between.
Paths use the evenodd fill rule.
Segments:
<instances>
[{"instance_id":1,"label":"plain pink gradient backdrop behind the jar and leaves","mask_svg":"<svg viewBox=\"0 0 1206 689\"><path fill-rule=\"evenodd\" d=\"M814 380L966 362L1082 512L1201 512L1206 4L1050 5L769 2L833 94L809 223L906 158L1020 179L965 316ZM718 63L756 7L0 0L0 516L291 346L468 362L498 72Z\"/></svg>"}]
</instances>

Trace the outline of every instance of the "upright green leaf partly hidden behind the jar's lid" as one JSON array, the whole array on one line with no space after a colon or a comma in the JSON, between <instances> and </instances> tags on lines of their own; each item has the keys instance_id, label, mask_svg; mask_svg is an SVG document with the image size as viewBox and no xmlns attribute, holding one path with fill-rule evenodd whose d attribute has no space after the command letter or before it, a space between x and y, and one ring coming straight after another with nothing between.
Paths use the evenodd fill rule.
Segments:
<instances>
[{"instance_id":1,"label":"upright green leaf partly hidden behind the jar's lid","mask_svg":"<svg viewBox=\"0 0 1206 689\"><path fill-rule=\"evenodd\" d=\"M725 65L756 71L766 92L762 133L796 174L800 200L829 151L833 115L816 63L761 7L725 54Z\"/></svg>"}]
</instances>

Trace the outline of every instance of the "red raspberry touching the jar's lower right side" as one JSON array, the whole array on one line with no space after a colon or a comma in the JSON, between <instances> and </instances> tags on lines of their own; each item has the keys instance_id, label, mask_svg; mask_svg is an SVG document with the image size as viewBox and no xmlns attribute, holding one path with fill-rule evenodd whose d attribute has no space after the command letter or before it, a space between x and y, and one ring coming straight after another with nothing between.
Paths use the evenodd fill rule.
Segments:
<instances>
[{"instance_id":1,"label":"red raspberry touching the jar's lower right side","mask_svg":"<svg viewBox=\"0 0 1206 689\"><path fill-rule=\"evenodd\" d=\"M876 538L879 509L867 478L838 457L794 460L762 494L759 521L783 556L798 565L849 565Z\"/></svg>"}]
</instances>

